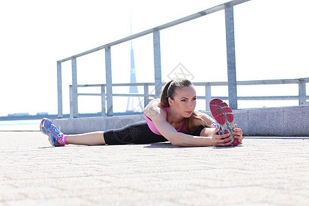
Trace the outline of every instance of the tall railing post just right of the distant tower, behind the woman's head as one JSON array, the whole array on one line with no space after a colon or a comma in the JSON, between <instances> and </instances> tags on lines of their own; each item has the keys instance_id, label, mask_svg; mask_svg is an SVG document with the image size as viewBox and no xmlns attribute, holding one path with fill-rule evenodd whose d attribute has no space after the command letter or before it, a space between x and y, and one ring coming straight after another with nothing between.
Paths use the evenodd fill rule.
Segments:
<instances>
[{"instance_id":1,"label":"tall railing post just right of the distant tower, behind the woman's head","mask_svg":"<svg viewBox=\"0 0 309 206\"><path fill-rule=\"evenodd\" d=\"M155 98L160 97L161 93L161 49L160 49L160 31L153 32L153 52L155 60Z\"/></svg>"}]
</instances>

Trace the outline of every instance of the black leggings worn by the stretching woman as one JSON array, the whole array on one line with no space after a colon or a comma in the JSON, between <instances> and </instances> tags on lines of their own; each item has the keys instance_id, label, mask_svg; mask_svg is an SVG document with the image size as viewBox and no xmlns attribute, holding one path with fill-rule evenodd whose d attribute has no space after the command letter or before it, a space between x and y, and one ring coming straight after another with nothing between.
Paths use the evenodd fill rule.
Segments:
<instances>
[{"instance_id":1,"label":"black leggings worn by the stretching woman","mask_svg":"<svg viewBox=\"0 0 309 206\"><path fill-rule=\"evenodd\" d=\"M199 126L190 135L200 136L205 126ZM146 121L128 124L124 128L104 131L106 144L150 144L168 141L162 135L157 135L150 130Z\"/></svg>"}]
</instances>

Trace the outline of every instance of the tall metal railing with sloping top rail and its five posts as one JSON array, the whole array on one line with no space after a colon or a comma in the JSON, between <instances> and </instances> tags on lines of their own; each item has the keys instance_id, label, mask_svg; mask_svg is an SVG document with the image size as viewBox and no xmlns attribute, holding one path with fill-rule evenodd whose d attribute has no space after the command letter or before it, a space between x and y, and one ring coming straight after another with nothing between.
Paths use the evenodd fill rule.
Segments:
<instances>
[{"instance_id":1,"label":"tall metal railing with sloping top rail and its five posts","mask_svg":"<svg viewBox=\"0 0 309 206\"><path fill-rule=\"evenodd\" d=\"M213 8L209 8L207 10L203 10L201 12L197 12L190 16L185 16L181 19L177 19L170 23L165 23L158 27L153 27L150 30L146 30L144 32L139 32L138 34L133 34L126 38L119 39L112 43L108 43L106 45L102 45L100 47L96 47L94 49L90 49L89 51L82 52L80 54L76 54L70 56L68 58L64 58L62 60L57 61L57 85L58 85L58 118L62 118L62 69L61 64L67 60L71 60L72 66L72 86L71 86L71 101L75 104L78 104L78 83L77 83L77 69L76 69L76 58L80 56L84 56L87 54L91 54L93 52L100 51L101 49L105 49L105 72L106 72L106 85L104 89L106 91L106 106L107 115L113 115L113 91L112 87L115 84L112 84L112 69L111 69L111 47L120 43L124 43L126 41L131 41L135 38L139 38L141 36L145 36L148 34L153 34L153 54L154 54L154 67L155 67L155 97L159 97L162 85L161 78L161 47L160 47L160 31L164 30L168 27L172 27L175 25L179 25L181 23L185 23L187 21L192 21L194 19L198 19L201 16L205 16L208 14L212 14L214 12L218 12L220 10L225 10L225 34L226 34L226 44L227 44L227 76L228 76L228 90L229 90L229 106L231 108L238 108L237 106L237 88L236 88L236 57L235 57L235 38L234 38L234 21L233 21L233 6L238 5L240 3L244 3L250 0L233 0L227 3L223 3L221 5L216 5ZM103 85L103 84L102 84ZM72 109L76 109L74 106ZM77 111L73 111L73 113L77 113Z\"/></svg>"}]
</instances>

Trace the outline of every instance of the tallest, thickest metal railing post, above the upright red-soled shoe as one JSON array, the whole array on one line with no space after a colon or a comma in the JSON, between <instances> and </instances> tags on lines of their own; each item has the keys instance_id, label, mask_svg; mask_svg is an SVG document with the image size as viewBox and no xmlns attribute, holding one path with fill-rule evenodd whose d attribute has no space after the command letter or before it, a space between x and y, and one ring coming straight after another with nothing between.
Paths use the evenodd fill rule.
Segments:
<instances>
[{"instance_id":1,"label":"tallest, thickest metal railing post, above the upright red-soled shoe","mask_svg":"<svg viewBox=\"0 0 309 206\"><path fill-rule=\"evenodd\" d=\"M237 109L236 57L234 38L233 5L225 3L225 33L227 38L227 79L229 87L229 106Z\"/></svg>"}]
</instances>

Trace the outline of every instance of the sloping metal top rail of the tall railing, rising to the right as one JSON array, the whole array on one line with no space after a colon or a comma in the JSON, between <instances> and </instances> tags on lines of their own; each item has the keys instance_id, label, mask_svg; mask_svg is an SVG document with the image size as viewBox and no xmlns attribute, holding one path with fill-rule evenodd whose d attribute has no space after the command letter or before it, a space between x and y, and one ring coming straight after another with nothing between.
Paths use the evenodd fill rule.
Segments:
<instances>
[{"instance_id":1,"label":"sloping metal top rail of the tall railing, rising to the right","mask_svg":"<svg viewBox=\"0 0 309 206\"><path fill-rule=\"evenodd\" d=\"M68 57L68 58L64 58L64 59L62 59L62 60L58 60L58 63L60 63L60 62L65 62L65 61L67 61L67 60L71 60L72 58L78 58L78 57L84 56L84 55L86 55L86 54L91 54L91 53L93 53L93 52L98 52L99 50L104 49L105 47L111 47L111 46L117 45L117 44L119 44L119 43L124 43L124 42L126 42L126 41L130 41L130 40L133 40L133 39L135 39L135 38L139 38L139 37L141 37L141 36L145 36L145 35L151 34L152 32L155 32L155 31L158 31L158 30L164 30L164 29L166 29L166 28L168 28L168 27L172 27L172 26L174 26L174 25L179 25L179 24L181 24L181 23L185 23L185 22L187 22L187 21L191 21L191 20L193 20L193 19L197 19L197 18L199 18L199 17L201 17L201 16L205 16L205 15L207 15L207 14L211 14L211 13L214 13L214 12L218 12L218 11L223 10L223 9L225 8L225 4L229 4L229 5L238 5L238 4L244 3L244 2L246 2L246 1L250 1L250 0L234 0L234 1L229 1L229 2L227 2L227 3L223 3L223 4L221 4L221 5L216 5L216 6L214 6L213 8L209 8L209 9L207 9L207 10L203 10L203 11L201 11L201 12L197 12L197 13L195 13L195 14L191 14L191 15L189 15L189 16L185 16L185 17L183 17L183 18L181 18L181 19L177 19L177 20L175 20L175 21L171 21L171 22L169 22L169 23L165 23L165 24L163 24L163 25L159 25L158 27L153 27L153 28L150 29L150 30L146 30L146 31L144 31L144 32L139 32L139 33L137 33L137 34L133 34L133 35L131 35L131 36L127 36L127 37L122 38L122 39L119 39L119 40L117 40L117 41L113 41L113 42L108 43L108 44L106 44L106 45L102 45L102 46L100 46L100 47L96 47L96 48L94 48L94 49L90 49L90 50L88 50L88 51L86 51L86 52L82 52L82 53L80 53L80 54L76 54L76 55L74 55L74 56L70 56L70 57Z\"/></svg>"}]
</instances>

